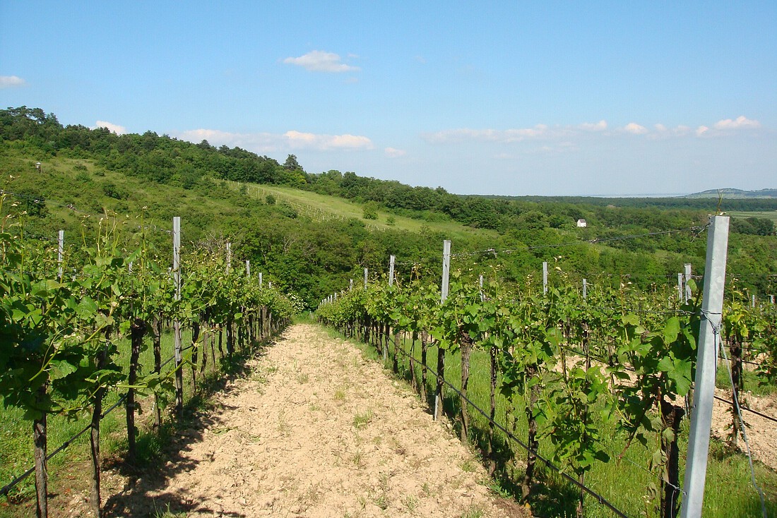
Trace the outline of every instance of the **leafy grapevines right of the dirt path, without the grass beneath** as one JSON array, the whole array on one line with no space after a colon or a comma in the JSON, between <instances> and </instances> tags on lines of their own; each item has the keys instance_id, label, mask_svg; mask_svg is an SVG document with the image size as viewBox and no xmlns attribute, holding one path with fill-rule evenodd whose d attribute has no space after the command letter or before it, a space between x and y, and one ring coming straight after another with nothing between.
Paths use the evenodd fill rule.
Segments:
<instances>
[{"instance_id":1,"label":"leafy grapevines right of the dirt path, without the grass beneath","mask_svg":"<svg viewBox=\"0 0 777 518\"><path fill-rule=\"evenodd\" d=\"M497 400L502 398L503 426L514 432L517 421L526 423L520 439L527 450L517 480L517 494L523 499L535 489L540 440L551 445L545 451L549 460L577 482L577 516L585 514L583 486L594 464L620 463L626 450L640 443L648 458L644 469L653 474L654 483L646 488L639 513L677 516L678 440L690 407L700 325L701 297L693 281L689 285L695 296L684 303L669 287L639 293L624 284L588 290L584 298L563 279L543 293L531 280L506 287L497 282L498 272L493 278L483 283L472 272L451 272L448 297L441 302L438 281L413 273L409 280L370 283L364 290L330 297L316 315L345 335L375 344L384 354L392 350L395 370L402 370L407 360L409 381L430 405L434 395L427 391L442 395L445 359L455 355L461 379L454 397L460 402L453 412L462 440L476 438L466 402L470 358L478 351L487 355L478 368L489 370L490 405L483 408L489 419L485 440L479 437L478 442L491 474L515 463L515 458L505 460L497 452ZM723 334L738 372L734 390L741 390L742 363L747 361L758 363L755 374L773 384L775 306L750 308L744 294L732 293L726 299ZM427 367L427 359L432 353L437 356L436 380L429 382L427 370L432 367ZM435 418L442 406L434 404ZM622 450L611 450L607 434L613 429L622 435ZM740 424L733 419L733 441L739 432Z\"/></svg>"}]
</instances>

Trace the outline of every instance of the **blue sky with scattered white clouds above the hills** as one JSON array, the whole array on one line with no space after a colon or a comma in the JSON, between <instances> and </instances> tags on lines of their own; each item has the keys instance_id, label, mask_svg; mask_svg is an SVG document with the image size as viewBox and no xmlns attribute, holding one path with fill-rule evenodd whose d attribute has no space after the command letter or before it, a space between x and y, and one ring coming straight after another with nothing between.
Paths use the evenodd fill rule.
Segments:
<instances>
[{"instance_id":1,"label":"blue sky with scattered white clouds above the hills","mask_svg":"<svg viewBox=\"0 0 777 518\"><path fill-rule=\"evenodd\" d=\"M452 193L777 188L777 2L0 0L0 106Z\"/></svg>"}]
</instances>

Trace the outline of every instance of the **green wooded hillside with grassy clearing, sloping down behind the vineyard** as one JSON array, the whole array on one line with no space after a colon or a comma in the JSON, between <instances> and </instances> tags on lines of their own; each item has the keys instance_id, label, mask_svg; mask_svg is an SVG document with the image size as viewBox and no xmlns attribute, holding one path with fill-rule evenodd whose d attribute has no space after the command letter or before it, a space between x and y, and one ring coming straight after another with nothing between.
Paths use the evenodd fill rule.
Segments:
<instances>
[{"instance_id":1,"label":"green wooded hillside with grassy clearing, sloping down behind the vineyard","mask_svg":"<svg viewBox=\"0 0 777 518\"><path fill-rule=\"evenodd\" d=\"M166 231L181 216L186 245L232 242L236 259L250 260L252 271L265 272L310 306L361 279L365 267L385 273L389 255L396 256L400 276L413 268L437 274L443 239L454 242L456 268L496 267L507 283L537 276L542 261L590 281L620 283L629 276L641 288L673 283L687 262L702 272L704 240L692 228L702 227L709 203L716 204L458 196L354 172L312 174L293 155L280 164L151 131L63 127L53 114L24 107L0 110L0 137L0 169L14 177L2 188L17 203L3 210L26 210L27 237L52 239L64 229L68 246L89 242L100 217L113 214L124 222L127 248L142 226L160 256L168 256ZM748 210L777 200L741 201L755 202ZM587 228L577 228L580 218ZM732 226L730 271L744 287L772 293L774 224L742 221Z\"/></svg>"}]
</instances>

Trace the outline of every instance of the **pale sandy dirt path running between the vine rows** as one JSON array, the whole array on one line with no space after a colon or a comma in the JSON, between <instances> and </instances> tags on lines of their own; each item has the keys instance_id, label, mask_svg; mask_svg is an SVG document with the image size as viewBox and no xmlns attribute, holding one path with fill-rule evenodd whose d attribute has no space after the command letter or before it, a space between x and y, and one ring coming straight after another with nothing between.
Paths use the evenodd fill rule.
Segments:
<instances>
[{"instance_id":1,"label":"pale sandy dirt path running between the vine rows","mask_svg":"<svg viewBox=\"0 0 777 518\"><path fill-rule=\"evenodd\" d=\"M528 516L404 384L318 326L294 325L253 369L159 478L106 474L106 514Z\"/></svg>"}]
</instances>

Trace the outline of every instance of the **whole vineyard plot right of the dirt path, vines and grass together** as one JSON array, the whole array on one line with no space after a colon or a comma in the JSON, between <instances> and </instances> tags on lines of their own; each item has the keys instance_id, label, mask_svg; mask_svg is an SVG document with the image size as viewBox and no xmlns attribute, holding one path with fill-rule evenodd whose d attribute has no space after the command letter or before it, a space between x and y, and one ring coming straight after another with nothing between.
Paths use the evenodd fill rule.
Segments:
<instances>
[{"instance_id":1,"label":"whole vineyard plot right of the dirt path, vines and grass together","mask_svg":"<svg viewBox=\"0 0 777 518\"><path fill-rule=\"evenodd\" d=\"M679 290L581 286L560 270L549 283L506 285L498 269L448 266L449 248L443 257L442 282L412 264L395 273L392 258L388 278L368 283L365 272L364 289L351 283L316 315L375 346L435 419L455 418L490 474L539 516L678 516L705 326L728 391L716 396L730 408L723 451L749 452L745 380L769 392L777 374L777 307L768 299L751 304L730 283L716 323L692 276ZM760 415L777 422L773 410ZM777 512L773 487L765 495L758 485L768 470L751 461L743 471L736 487L708 476L704 516Z\"/></svg>"}]
</instances>

